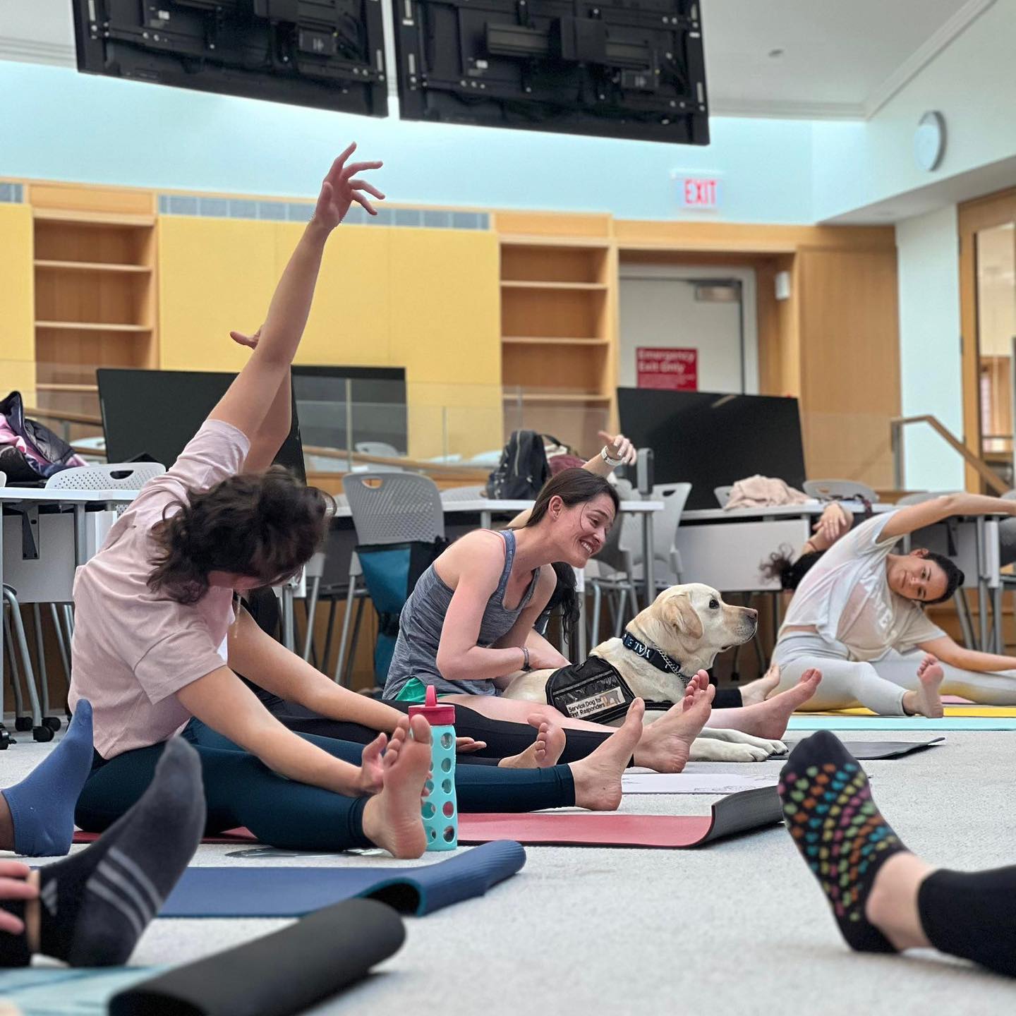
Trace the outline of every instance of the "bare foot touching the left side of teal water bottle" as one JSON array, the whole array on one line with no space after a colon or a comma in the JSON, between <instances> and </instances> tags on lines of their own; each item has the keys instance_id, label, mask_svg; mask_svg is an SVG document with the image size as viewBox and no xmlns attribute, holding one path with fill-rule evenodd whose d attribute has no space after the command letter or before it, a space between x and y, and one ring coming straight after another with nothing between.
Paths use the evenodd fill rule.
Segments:
<instances>
[{"instance_id":1,"label":"bare foot touching the left side of teal water bottle","mask_svg":"<svg viewBox=\"0 0 1016 1016\"><path fill-rule=\"evenodd\" d=\"M411 722L403 717L384 755L384 787L364 808L364 835L395 858L419 858L427 848L420 801L430 768L430 723L423 716Z\"/></svg>"}]
</instances>

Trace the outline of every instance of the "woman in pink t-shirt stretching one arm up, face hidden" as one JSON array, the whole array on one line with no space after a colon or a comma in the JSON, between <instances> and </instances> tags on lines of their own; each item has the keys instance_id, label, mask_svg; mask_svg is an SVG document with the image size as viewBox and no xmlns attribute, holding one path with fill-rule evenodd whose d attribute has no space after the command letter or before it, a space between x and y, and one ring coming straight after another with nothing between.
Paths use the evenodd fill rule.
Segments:
<instances>
[{"instance_id":1,"label":"woman in pink t-shirt stretching one arm up, face hidden","mask_svg":"<svg viewBox=\"0 0 1016 1016\"><path fill-rule=\"evenodd\" d=\"M410 724L335 685L233 607L236 593L298 572L325 534L326 497L269 466L291 428L290 365L325 242L353 202L374 214L370 197L383 197L358 177L381 164L350 163L354 148L322 184L249 362L180 458L145 485L78 570L70 703L91 702L96 746L75 814L85 830L100 832L127 811L165 743L182 733L201 758L208 832L247 826L276 846L376 844L397 856L425 848L426 720ZM236 672L323 716L385 733L366 747L294 734ZM617 808L640 734L635 716L571 765L554 765L541 735L508 766L459 768L459 806Z\"/></svg>"}]
</instances>

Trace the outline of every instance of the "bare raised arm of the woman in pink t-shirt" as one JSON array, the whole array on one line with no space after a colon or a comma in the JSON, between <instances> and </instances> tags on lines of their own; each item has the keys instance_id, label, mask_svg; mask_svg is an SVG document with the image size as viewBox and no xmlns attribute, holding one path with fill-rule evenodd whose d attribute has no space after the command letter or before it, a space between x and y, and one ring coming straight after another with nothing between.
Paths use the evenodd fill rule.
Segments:
<instances>
[{"instance_id":1,"label":"bare raised arm of the woman in pink t-shirt","mask_svg":"<svg viewBox=\"0 0 1016 1016\"><path fill-rule=\"evenodd\" d=\"M377 169L381 164L347 163L355 148L356 145L351 144L328 171L321 184L314 214L272 297L268 315L260 329L260 340L247 365L209 414L209 420L233 424L252 442L265 424L269 408L278 404L276 396L307 324L321 256L329 234L342 221L354 201L371 214L376 214L365 191L378 198L384 197L366 180L357 177L358 173ZM275 433L274 425L272 433Z\"/></svg>"}]
</instances>

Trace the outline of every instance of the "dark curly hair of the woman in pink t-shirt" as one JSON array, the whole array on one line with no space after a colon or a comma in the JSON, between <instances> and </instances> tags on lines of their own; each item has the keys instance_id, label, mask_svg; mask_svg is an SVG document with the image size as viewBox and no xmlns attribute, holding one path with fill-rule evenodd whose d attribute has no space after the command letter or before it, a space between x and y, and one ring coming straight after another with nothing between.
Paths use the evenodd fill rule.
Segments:
<instances>
[{"instance_id":1,"label":"dark curly hair of the woman in pink t-shirt","mask_svg":"<svg viewBox=\"0 0 1016 1016\"><path fill-rule=\"evenodd\" d=\"M180 604L208 591L208 573L273 585L296 574L324 542L329 498L288 469L239 473L168 505L151 529L157 551L148 588Z\"/></svg>"}]
</instances>

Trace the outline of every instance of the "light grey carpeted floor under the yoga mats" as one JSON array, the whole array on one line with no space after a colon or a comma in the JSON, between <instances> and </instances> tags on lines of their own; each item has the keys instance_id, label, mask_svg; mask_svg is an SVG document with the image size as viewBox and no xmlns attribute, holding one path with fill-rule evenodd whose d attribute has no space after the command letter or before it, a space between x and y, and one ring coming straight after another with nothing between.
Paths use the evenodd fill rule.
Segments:
<instances>
[{"instance_id":1,"label":"light grey carpeted floor under the yoga mats","mask_svg":"<svg viewBox=\"0 0 1016 1016\"><path fill-rule=\"evenodd\" d=\"M903 759L865 763L876 800L903 840L933 863L960 869L1016 864L1016 733L950 733L947 739ZM0 753L0 784L15 782L48 750L22 736ZM771 762L751 771L778 769ZM640 796L622 807L704 814L711 801ZM391 864L385 855L251 860L236 853L232 846L202 846L193 863ZM407 919L399 953L367 982L313 1012L380 1013L412 1005L484 1016L905 1016L933 1010L1008 1014L1016 1007L1016 981L967 965L931 954L848 952L779 828L699 851L531 847L527 854L522 872L487 897ZM156 920L132 962L194 959L281 925ZM2 982L0 976L0 996Z\"/></svg>"}]
</instances>

